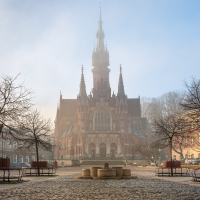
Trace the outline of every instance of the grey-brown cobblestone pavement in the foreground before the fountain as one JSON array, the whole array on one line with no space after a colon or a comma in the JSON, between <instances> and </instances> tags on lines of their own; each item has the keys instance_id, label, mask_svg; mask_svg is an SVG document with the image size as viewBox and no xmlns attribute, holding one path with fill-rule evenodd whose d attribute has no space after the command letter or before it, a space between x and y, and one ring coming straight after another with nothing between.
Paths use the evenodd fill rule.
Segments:
<instances>
[{"instance_id":1,"label":"grey-brown cobblestone pavement in the foreground before the fountain","mask_svg":"<svg viewBox=\"0 0 200 200\"><path fill-rule=\"evenodd\" d=\"M79 174L80 175L80 174ZM0 185L1 187L1 185ZM139 176L138 179L75 179L57 176L0 189L0 199L200 199L200 187Z\"/></svg>"}]
</instances>

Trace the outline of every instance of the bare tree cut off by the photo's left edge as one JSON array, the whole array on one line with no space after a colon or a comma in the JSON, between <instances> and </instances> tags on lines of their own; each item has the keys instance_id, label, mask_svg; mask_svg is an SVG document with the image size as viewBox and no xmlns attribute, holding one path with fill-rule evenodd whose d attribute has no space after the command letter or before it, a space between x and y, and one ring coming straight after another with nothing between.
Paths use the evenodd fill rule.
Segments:
<instances>
[{"instance_id":1,"label":"bare tree cut off by the photo's left edge","mask_svg":"<svg viewBox=\"0 0 200 200\"><path fill-rule=\"evenodd\" d=\"M1 76L0 81L0 124L9 128L31 108L33 91L24 86L24 82L17 84L17 78ZM12 133L7 131L6 133ZM3 133L2 133L3 134Z\"/></svg>"}]
</instances>

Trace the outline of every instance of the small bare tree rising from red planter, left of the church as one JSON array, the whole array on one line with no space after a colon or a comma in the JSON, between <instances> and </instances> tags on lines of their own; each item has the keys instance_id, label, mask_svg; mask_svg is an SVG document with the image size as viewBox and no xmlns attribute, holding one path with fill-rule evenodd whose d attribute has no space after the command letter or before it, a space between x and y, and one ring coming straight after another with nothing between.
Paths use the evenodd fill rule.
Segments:
<instances>
[{"instance_id":1,"label":"small bare tree rising from red planter, left of the church","mask_svg":"<svg viewBox=\"0 0 200 200\"><path fill-rule=\"evenodd\" d=\"M38 110L31 111L28 115L17 122L17 128L13 130L13 137L21 143L18 150L36 151L39 162L39 150L53 151L51 135L53 132L50 119L44 119ZM38 168L38 175L40 174Z\"/></svg>"}]
</instances>

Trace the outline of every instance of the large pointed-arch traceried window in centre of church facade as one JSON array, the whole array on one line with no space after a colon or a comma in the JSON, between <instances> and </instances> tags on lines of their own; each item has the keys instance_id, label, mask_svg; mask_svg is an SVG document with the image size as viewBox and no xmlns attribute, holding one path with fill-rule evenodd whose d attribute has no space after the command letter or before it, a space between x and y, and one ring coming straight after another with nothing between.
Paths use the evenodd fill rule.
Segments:
<instances>
[{"instance_id":1,"label":"large pointed-arch traceried window in centre of church facade","mask_svg":"<svg viewBox=\"0 0 200 200\"><path fill-rule=\"evenodd\" d=\"M95 115L95 131L109 131L110 116L107 110L101 107Z\"/></svg>"}]
</instances>

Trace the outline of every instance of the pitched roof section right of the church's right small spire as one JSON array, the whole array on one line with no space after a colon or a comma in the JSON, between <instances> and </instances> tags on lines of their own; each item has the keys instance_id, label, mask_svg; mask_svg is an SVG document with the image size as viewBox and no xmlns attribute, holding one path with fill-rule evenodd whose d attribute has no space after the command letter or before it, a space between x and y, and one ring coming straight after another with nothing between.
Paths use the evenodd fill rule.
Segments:
<instances>
[{"instance_id":1,"label":"pitched roof section right of the church's right small spire","mask_svg":"<svg viewBox=\"0 0 200 200\"><path fill-rule=\"evenodd\" d=\"M141 116L140 99L127 99L128 110L131 116Z\"/></svg>"}]
</instances>

